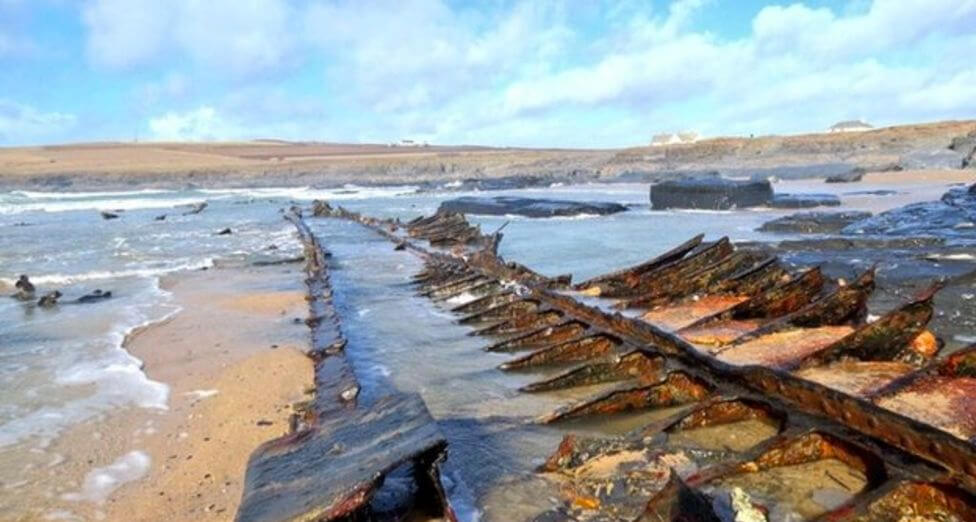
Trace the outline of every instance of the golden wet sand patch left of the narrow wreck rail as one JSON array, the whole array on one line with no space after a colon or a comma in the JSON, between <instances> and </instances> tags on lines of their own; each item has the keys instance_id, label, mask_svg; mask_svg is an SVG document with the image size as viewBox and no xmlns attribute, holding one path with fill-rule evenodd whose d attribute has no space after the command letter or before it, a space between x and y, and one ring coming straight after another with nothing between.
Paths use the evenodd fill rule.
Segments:
<instances>
[{"instance_id":1,"label":"golden wet sand patch left of the narrow wreck rail","mask_svg":"<svg viewBox=\"0 0 976 522\"><path fill-rule=\"evenodd\" d=\"M301 281L299 265L164 280L182 310L134 333L126 347L151 379L170 386L169 409L129 408L66 433L50 448L64 462L38 479L48 483L47 500L25 499L34 506L26 511L67 520L232 520L251 452L287 432L291 405L313 389L308 329L295 322L307 315ZM137 468L116 470L135 480L100 488L89 475L86 483L93 467L113 463Z\"/></svg>"}]
</instances>

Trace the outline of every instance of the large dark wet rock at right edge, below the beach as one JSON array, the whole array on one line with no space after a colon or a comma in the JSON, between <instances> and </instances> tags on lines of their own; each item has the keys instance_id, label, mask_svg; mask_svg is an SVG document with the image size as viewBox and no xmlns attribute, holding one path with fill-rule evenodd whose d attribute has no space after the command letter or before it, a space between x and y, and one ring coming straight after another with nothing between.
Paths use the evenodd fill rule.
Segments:
<instances>
[{"instance_id":1,"label":"large dark wet rock at right edge, below the beach","mask_svg":"<svg viewBox=\"0 0 976 522\"><path fill-rule=\"evenodd\" d=\"M954 188L939 201L914 203L844 227L844 234L976 240L976 185Z\"/></svg>"}]
</instances>

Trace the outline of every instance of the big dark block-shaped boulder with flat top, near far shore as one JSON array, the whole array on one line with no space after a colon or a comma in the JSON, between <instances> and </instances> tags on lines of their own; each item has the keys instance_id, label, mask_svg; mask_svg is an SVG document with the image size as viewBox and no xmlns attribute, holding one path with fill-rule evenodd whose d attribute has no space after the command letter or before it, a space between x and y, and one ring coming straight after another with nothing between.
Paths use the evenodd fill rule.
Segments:
<instances>
[{"instance_id":1,"label":"big dark block-shaped boulder with flat top, near far shore","mask_svg":"<svg viewBox=\"0 0 976 522\"><path fill-rule=\"evenodd\" d=\"M694 178L665 181L651 186L651 208L728 210L758 207L773 198L768 180L738 181Z\"/></svg>"}]
</instances>

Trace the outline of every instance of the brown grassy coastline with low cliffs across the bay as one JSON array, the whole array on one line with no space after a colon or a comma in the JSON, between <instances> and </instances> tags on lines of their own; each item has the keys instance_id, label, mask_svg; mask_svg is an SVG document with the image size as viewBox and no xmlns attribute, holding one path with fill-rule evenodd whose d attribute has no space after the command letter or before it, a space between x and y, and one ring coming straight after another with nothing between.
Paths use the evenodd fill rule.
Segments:
<instances>
[{"instance_id":1,"label":"brown grassy coastline with low cliffs across the bay","mask_svg":"<svg viewBox=\"0 0 976 522\"><path fill-rule=\"evenodd\" d=\"M950 150L976 121L880 128L849 135L718 137L618 149L519 149L294 142L99 143L0 148L0 188L133 189L443 184L536 178L651 181L718 171L812 179L857 169L960 169Z\"/></svg>"}]
</instances>

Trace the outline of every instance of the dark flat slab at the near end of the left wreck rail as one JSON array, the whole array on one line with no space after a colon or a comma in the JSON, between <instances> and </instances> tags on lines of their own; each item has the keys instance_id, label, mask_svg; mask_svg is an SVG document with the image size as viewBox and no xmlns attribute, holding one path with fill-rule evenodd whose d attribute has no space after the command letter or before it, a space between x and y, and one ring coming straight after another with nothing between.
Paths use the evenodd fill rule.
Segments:
<instances>
[{"instance_id":1,"label":"dark flat slab at the near end of the left wreck rail","mask_svg":"<svg viewBox=\"0 0 976 522\"><path fill-rule=\"evenodd\" d=\"M387 473L446 444L415 394L340 412L255 450L237 520L344 519L369 503Z\"/></svg>"}]
</instances>

